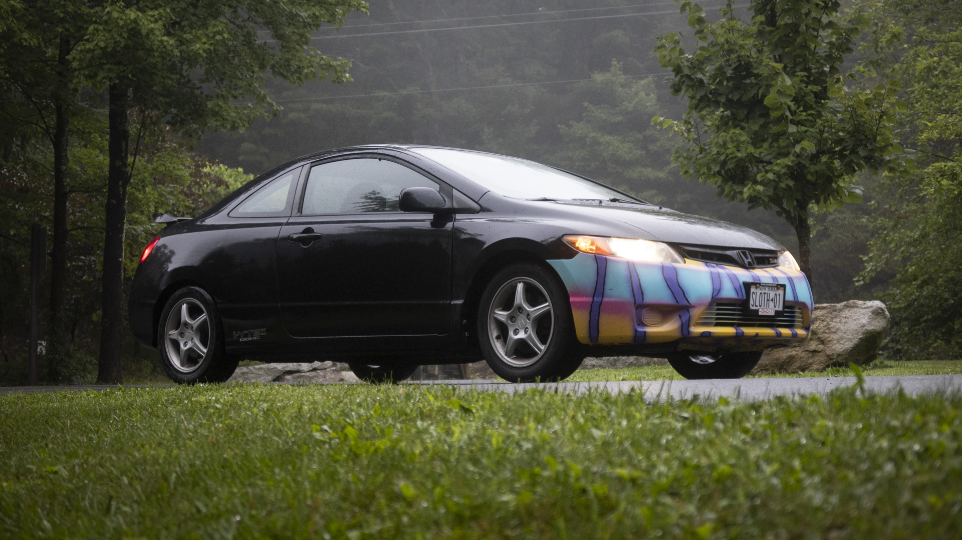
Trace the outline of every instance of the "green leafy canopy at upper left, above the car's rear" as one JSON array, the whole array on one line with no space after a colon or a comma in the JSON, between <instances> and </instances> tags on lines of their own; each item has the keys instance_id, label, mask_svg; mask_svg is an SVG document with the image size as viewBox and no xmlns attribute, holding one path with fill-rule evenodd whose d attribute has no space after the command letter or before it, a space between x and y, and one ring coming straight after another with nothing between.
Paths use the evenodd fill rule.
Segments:
<instances>
[{"instance_id":1,"label":"green leafy canopy at upper left, above the car's rear","mask_svg":"<svg viewBox=\"0 0 962 540\"><path fill-rule=\"evenodd\" d=\"M367 3L107 2L71 60L90 86L129 87L139 108L161 112L181 134L242 129L274 106L266 71L293 84L328 73L336 83L350 80L350 63L321 54L310 36L355 10L367 12Z\"/></svg>"}]
</instances>

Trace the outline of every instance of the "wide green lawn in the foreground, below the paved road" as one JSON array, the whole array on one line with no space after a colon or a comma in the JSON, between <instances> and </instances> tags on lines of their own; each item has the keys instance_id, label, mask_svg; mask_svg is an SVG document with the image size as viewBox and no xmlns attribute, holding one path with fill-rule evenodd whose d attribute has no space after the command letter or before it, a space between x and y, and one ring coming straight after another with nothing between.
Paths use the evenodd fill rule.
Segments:
<instances>
[{"instance_id":1,"label":"wide green lawn in the foreground, below the paved road","mask_svg":"<svg viewBox=\"0 0 962 540\"><path fill-rule=\"evenodd\" d=\"M962 398L0 396L6 538L958 538Z\"/></svg>"}]
</instances>

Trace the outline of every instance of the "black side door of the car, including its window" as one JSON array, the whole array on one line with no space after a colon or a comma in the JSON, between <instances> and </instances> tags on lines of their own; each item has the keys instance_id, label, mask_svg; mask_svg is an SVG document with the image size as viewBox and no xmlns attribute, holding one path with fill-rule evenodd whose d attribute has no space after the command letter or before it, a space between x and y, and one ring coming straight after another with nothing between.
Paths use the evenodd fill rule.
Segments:
<instances>
[{"instance_id":1,"label":"black side door of the car, including its window","mask_svg":"<svg viewBox=\"0 0 962 540\"><path fill-rule=\"evenodd\" d=\"M448 331L451 219L398 210L401 190L442 186L400 161L311 167L278 239L281 316L297 338Z\"/></svg>"}]
</instances>

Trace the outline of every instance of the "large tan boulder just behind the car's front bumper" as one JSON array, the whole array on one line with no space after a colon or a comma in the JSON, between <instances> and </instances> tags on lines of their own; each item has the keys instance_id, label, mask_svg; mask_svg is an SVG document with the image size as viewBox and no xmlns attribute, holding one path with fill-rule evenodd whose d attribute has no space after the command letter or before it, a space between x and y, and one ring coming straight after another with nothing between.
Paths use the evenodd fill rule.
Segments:
<instances>
[{"instance_id":1,"label":"large tan boulder just behind the car's front bumper","mask_svg":"<svg viewBox=\"0 0 962 540\"><path fill-rule=\"evenodd\" d=\"M812 334L791 347L770 348L752 373L821 372L830 366L862 366L878 357L889 312L877 300L816 304Z\"/></svg>"}]
</instances>

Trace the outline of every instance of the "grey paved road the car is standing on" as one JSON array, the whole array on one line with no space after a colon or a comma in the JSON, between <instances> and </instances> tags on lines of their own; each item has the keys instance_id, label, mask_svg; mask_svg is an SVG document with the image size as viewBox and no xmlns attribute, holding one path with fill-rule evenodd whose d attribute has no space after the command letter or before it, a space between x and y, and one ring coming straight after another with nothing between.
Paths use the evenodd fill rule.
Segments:
<instances>
[{"instance_id":1,"label":"grey paved road the car is standing on","mask_svg":"<svg viewBox=\"0 0 962 540\"><path fill-rule=\"evenodd\" d=\"M625 382L558 382L540 384L511 384L490 380L439 380L417 381L405 384L443 384L463 390L481 392L523 392L531 388L542 388L553 392L584 394L591 390L611 392L644 392L649 401L661 399L718 399L721 397L758 400L775 396L824 395L836 388L850 387L855 377L798 377L798 378L745 378L712 380L648 380ZM343 383L333 383L343 384ZM347 383L355 384L355 383ZM165 388L172 385L124 385L126 388L155 387ZM102 391L116 388L113 385L89 386L8 386L0 388L0 394L36 393L56 391ZM867 376L865 390L869 392L895 392L901 389L910 396L922 394L962 395L962 375L904 375L904 376Z\"/></svg>"}]
</instances>

